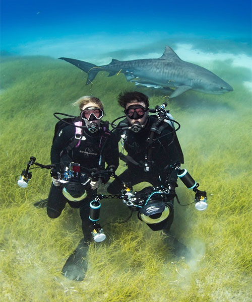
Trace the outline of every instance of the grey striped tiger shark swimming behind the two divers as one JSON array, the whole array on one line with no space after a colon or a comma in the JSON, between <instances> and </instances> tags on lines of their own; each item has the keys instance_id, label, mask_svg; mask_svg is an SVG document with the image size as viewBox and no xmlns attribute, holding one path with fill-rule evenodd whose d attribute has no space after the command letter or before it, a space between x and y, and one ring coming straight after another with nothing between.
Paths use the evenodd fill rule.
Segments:
<instances>
[{"instance_id":1,"label":"grey striped tiger shark swimming behind the two divers","mask_svg":"<svg viewBox=\"0 0 252 302\"><path fill-rule=\"evenodd\" d=\"M108 77L124 73L127 81L156 89L171 89L169 98L175 98L188 90L210 94L223 94L233 88L210 70L181 60L169 47L160 58L119 61L112 59L107 65L95 64L61 57L88 74L86 85L92 83L99 71L107 71Z\"/></svg>"}]
</instances>

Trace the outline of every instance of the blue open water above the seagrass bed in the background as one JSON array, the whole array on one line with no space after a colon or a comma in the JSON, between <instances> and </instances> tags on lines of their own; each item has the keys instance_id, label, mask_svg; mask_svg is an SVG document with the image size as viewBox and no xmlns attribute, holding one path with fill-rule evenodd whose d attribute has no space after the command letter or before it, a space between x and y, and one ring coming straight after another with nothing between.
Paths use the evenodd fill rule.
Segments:
<instances>
[{"instance_id":1,"label":"blue open water above the seagrass bed in the background","mask_svg":"<svg viewBox=\"0 0 252 302\"><path fill-rule=\"evenodd\" d=\"M161 54L181 42L249 55L250 1L1 2L1 50L17 55L98 61L123 51Z\"/></svg>"}]
</instances>

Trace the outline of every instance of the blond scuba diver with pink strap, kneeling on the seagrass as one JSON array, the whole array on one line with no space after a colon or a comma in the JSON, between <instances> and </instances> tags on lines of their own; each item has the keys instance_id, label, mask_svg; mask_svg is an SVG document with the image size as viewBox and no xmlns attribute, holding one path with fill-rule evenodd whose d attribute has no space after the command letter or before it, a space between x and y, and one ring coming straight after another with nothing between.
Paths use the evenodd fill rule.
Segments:
<instances>
[{"instance_id":1,"label":"blond scuba diver with pink strap, kneeling on the seagrass","mask_svg":"<svg viewBox=\"0 0 252 302\"><path fill-rule=\"evenodd\" d=\"M101 101L95 97L84 96L73 105L79 106L81 110L78 125L86 125L86 128L64 124L55 133L51 146L51 163L55 165L56 172L64 173L71 162L78 163L86 170L104 169L106 163L106 169L115 171L118 167L118 144L114 134L108 130L108 123L101 121L104 110ZM100 183L106 183L108 179L109 176L92 180L88 187L84 187L75 182L64 186L59 179L52 177L47 202L48 216L57 218L67 202L72 208L80 210L84 238L62 268L62 274L71 280L81 281L85 277L86 257L94 230L89 219L89 203L96 195Z\"/></svg>"}]
</instances>

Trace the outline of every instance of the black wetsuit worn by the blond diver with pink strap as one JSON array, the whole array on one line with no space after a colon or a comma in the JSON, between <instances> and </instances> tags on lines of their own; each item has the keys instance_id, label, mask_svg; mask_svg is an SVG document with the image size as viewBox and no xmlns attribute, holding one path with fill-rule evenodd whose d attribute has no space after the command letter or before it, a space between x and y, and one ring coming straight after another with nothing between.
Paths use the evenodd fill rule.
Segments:
<instances>
[{"instance_id":1,"label":"black wetsuit worn by the blond diver with pink strap","mask_svg":"<svg viewBox=\"0 0 252 302\"><path fill-rule=\"evenodd\" d=\"M102 129L96 133L91 133L88 130L83 130L83 137L78 147L74 146L70 152L66 152L65 148L69 146L75 137L76 128L73 126L64 127L56 136L51 146L51 163L56 164L57 170L61 173L70 162L80 164L87 169L98 168L99 158L102 149L102 165L113 165L115 169L118 167L118 144L113 133L106 135L104 132L104 124L101 123ZM106 131L107 132L107 131ZM62 152L62 150L65 150ZM59 164L60 163L60 164ZM106 182L108 179L102 180ZM61 186L51 186L47 214L51 218L58 217L68 202L71 207L80 209L82 220L82 230L86 242L92 238L92 222L89 220L89 203L93 198L95 190L88 190L88 196L78 202L69 201L62 194Z\"/></svg>"}]
</instances>

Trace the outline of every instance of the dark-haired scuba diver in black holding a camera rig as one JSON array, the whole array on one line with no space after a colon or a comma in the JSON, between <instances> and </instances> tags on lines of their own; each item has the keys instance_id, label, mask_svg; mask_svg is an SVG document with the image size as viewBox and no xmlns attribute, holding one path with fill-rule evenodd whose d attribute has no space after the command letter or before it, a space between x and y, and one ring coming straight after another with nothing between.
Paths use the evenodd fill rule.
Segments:
<instances>
[{"instance_id":1,"label":"dark-haired scuba diver in black holding a camera rig","mask_svg":"<svg viewBox=\"0 0 252 302\"><path fill-rule=\"evenodd\" d=\"M169 188L169 196L172 198L169 200L169 209L165 208L161 218L160 203L156 209L155 206L143 208L139 215L153 231L163 230L168 233L173 222L173 197L177 186L177 171L172 167L183 164L176 133L172 124L164 121L160 123L156 115L149 116L146 95L140 92L121 93L118 103L124 108L126 118L118 124L114 133L117 141L121 139L123 148L128 152L127 156L119 154L128 168L108 186L107 191L118 194L123 189L123 183L134 186L141 182L149 182L153 187ZM154 215L151 217L150 213Z\"/></svg>"}]
</instances>

